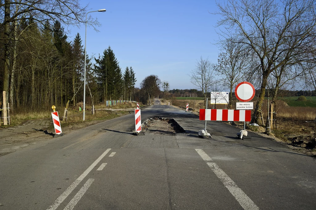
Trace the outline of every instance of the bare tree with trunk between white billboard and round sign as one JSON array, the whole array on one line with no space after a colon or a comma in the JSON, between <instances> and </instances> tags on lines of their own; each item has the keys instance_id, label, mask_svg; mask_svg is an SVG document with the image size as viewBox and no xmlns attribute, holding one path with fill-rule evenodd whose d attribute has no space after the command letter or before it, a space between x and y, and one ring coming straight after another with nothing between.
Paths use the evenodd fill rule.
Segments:
<instances>
[{"instance_id":1,"label":"bare tree with trunk between white billboard and round sign","mask_svg":"<svg viewBox=\"0 0 316 210\"><path fill-rule=\"evenodd\" d=\"M222 77L221 81L229 88L229 109L232 108L233 88L245 80L246 67L250 66L248 53L243 47L241 43L232 40L224 42L224 52L218 55L218 64L215 66L217 74Z\"/></svg>"}]
</instances>

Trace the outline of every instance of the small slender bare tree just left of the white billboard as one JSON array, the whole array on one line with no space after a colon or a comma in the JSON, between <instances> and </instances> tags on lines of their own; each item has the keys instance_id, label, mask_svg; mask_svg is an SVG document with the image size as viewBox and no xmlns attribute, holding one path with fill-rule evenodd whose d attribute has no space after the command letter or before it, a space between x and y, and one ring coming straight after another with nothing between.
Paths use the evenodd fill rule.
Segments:
<instances>
[{"instance_id":1,"label":"small slender bare tree just left of the white billboard","mask_svg":"<svg viewBox=\"0 0 316 210\"><path fill-rule=\"evenodd\" d=\"M191 70L189 75L191 83L201 90L204 96L204 106L206 105L207 93L210 92L210 87L214 79L214 66L209 59L204 60L202 56L196 61L195 69Z\"/></svg>"}]
</instances>

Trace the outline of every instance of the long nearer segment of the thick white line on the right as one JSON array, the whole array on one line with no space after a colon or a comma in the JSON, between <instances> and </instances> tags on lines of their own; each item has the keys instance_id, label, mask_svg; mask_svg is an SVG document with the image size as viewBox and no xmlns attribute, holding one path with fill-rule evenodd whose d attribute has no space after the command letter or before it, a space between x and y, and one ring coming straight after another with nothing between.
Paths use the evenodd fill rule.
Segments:
<instances>
[{"instance_id":1,"label":"long nearer segment of the thick white line on the right","mask_svg":"<svg viewBox=\"0 0 316 210\"><path fill-rule=\"evenodd\" d=\"M234 181L227 176L227 174L216 165L216 163L207 163L216 176L222 181L229 192L239 202L240 206L245 210L258 210L259 208L254 202L240 189Z\"/></svg>"}]
</instances>

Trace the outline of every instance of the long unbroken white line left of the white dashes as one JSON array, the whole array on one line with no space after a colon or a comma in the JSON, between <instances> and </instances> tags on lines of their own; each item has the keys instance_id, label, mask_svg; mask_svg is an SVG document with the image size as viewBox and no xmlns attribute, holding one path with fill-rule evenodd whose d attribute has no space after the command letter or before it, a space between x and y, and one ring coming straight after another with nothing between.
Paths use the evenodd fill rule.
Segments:
<instances>
[{"instance_id":1,"label":"long unbroken white line left of the white dashes","mask_svg":"<svg viewBox=\"0 0 316 210\"><path fill-rule=\"evenodd\" d=\"M54 204L50 207L48 207L48 209L46 210L55 210L58 208L58 206L68 197L68 195L72 192L72 190L74 190L76 188L76 186L84 179L84 177L86 177L88 175L88 173L94 168L95 165L97 165L102 158L104 158L104 156L106 156L106 154L110 151L111 149L107 149L103 154L100 155L100 157L98 159L96 159L94 161L94 163L92 165L89 166L89 168L87 168L86 171L84 171L80 177L78 177L64 192L63 194L61 194L56 201L54 202Z\"/></svg>"}]
</instances>

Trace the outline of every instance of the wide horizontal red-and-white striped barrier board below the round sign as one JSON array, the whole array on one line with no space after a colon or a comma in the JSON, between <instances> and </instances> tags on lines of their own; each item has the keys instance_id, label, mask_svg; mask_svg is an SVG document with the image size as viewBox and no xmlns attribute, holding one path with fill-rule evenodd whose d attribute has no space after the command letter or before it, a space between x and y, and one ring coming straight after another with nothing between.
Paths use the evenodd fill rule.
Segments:
<instances>
[{"instance_id":1,"label":"wide horizontal red-and-white striped barrier board below the round sign","mask_svg":"<svg viewBox=\"0 0 316 210\"><path fill-rule=\"evenodd\" d=\"M251 121L251 110L200 109L200 120Z\"/></svg>"}]
</instances>

